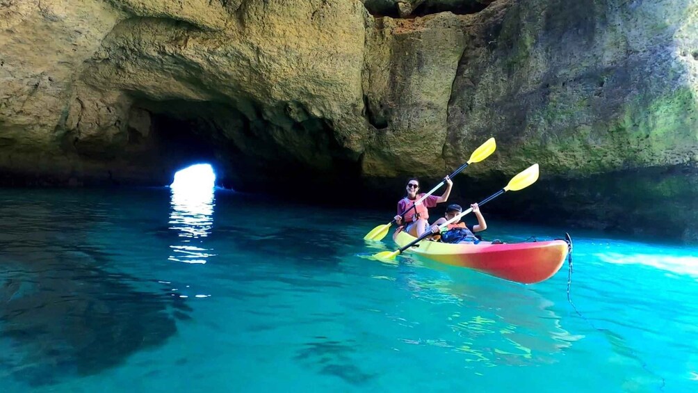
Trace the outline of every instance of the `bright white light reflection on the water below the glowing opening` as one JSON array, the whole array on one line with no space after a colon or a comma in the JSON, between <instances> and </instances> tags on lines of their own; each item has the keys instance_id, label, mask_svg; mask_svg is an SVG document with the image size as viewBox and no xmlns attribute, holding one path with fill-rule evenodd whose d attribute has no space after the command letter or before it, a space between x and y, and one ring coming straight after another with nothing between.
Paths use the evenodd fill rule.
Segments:
<instances>
[{"instance_id":1,"label":"bright white light reflection on the water below the glowing opening","mask_svg":"<svg viewBox=\"0 0 698 393\"><path fill-rule=\"evenodd\" d=\"M189 186L173 183L170 186L172 207L170 230L178 232L177 244L172 244L169 260L185 263L206 263L215 254L204 246L211 235L215 197L214 187Z\"/></svg>"}]
</instances>

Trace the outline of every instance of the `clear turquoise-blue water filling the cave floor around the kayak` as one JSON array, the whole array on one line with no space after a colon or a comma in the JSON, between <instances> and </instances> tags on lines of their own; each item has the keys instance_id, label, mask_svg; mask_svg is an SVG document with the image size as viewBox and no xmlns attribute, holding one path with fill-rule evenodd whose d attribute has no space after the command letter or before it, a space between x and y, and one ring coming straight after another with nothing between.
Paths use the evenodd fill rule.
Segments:
<instances>
[{"instance_id":1,"label":"clear turquoise-blue water filling the cave floor around the kayak","mask_svg":"<svg viewBox=\"0 0 698 393\"><path fill-rule=\"evenodd\" d=\"M0 190L0 392L698 391L697 249L572 231L580 316L567 266L523 286L362 258L391 215Z\"/></svg>"}]
</instances>

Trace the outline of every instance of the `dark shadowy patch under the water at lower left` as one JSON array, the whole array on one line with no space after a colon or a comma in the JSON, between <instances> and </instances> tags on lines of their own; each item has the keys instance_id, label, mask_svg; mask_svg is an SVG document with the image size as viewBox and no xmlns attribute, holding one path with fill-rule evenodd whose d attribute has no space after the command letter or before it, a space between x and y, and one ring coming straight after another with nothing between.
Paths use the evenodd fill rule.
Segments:
<instances>
[{"instance_id":1,"label":"dark shadowy patch under the water at lower left","mask_svg":"<svg viewBox=\"0 0 698 393\"><path fill-rule=\"evenodd\" d=\"M100 373L161 346L176 334L175 318L191 311L160 283L95 267L107 258L96 249L17 256L0 272L0 346L10 348L0 368L31 387Z\"/></svg>"}]
</instances>

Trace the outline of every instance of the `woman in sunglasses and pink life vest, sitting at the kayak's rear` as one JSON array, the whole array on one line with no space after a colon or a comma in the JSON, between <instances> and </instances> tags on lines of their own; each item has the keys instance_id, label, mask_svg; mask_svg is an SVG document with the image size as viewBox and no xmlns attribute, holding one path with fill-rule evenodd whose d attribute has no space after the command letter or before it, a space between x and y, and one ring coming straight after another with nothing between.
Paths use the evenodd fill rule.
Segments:
<instances>
[{"instance_id":1,"label":"woman in sunglasses and pink life vest, sitting at the kayak's rear","mask_svg":"<svg viewBox=\"0 0 698 393\"><path fill-rule=\"evenodd\" d=\"M424 196L424 193L417 194L417 191L419 191L419 179L416 177L409 179L405 186L407 191L406 197L397 202L397 216L395 216L397 225L404 225L403 230L414 237L422 236L426 232L426 228L429 227L429 207L436 207L436 204L446 202L448 195L451 194L453 181L448 176L444 177L443 180L446 182L446 191L444 191L443 195L440 197L429 195L424 198L422 203L413 207L415 202Z\"/></svg>"}]
</instances>

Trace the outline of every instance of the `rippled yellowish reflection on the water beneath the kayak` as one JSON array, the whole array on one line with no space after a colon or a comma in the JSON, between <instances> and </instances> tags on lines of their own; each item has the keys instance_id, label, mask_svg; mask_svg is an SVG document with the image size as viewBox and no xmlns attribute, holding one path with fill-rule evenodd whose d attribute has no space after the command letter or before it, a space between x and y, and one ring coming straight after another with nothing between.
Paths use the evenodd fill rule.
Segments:
<instances>
[{"instance_id":1,"label":"rippled yellowish reflection on the water beneath the kayak","mask_svg":"<svg viewBox=\"0 0 698 393\"><path fill-rule=\"evenodd\" d=\"M450 348L466 355L466 362L489 367L554 363L554 354L584 338L565 330L552 311L554 302L533 290L422 258L404 259L399 281L428 302L429 313L440 314L446 327L438 336L406 343ZM420 274L421 267L441 274Z\"/></svg>"}]
</instances>

